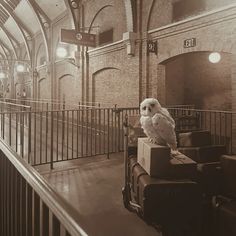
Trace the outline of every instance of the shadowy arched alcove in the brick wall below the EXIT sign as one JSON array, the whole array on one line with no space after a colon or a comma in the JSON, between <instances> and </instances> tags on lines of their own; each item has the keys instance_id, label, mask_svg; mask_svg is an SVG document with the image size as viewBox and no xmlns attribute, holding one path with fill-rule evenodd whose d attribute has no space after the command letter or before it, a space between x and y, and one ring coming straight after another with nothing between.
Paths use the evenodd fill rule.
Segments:
<instances>
[{"instance_id":1,"label":"shadowy arched alcove in the brick wall below the EXIT sign","mask_svg":"<svg viewBox=\"0 0 236 236\"><path fill-rule=\"evenodd\" d=\"M232 109L232 54L221 53L211 63L210 52L192 52L164 62L165 101L168 105L193 104L200 109Z\"/></svg>"}]
</instances>

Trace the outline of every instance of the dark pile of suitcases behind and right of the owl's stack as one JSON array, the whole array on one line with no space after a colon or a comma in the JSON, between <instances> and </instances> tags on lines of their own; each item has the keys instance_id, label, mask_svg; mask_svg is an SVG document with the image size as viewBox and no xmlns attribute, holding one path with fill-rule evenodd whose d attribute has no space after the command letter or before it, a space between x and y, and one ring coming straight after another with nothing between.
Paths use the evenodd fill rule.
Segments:
<instances>
[{"instance_id":1,"label":"dark pile of suitcases behind and right of the owl's stack","mask_svg":"<svg viewBox=\"0 0 236 236\"><path fill-rule=\"evenodd\" d=\"M215 235L212 198L222 186L220 157L226 153L225 145L213 145L207 130L195 130L178 135L179 151L197 163L197 178L202 192L202 234Z\"/></svg>"}]
</instances>

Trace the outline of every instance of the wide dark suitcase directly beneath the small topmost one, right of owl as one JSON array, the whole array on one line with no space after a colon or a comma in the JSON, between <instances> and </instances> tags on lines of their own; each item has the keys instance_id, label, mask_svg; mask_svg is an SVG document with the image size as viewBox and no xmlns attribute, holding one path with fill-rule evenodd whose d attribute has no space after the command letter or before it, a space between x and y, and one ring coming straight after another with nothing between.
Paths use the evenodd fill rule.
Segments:
<instances>
[{"instance_id":1,"label":"wide dark suitcase directly beneath the small topmost one, right of owl","mask_svg":"<svg viewBox=\"0 0 236 236\"><path fill-rule=\"evenodd\" d=\"M184 147L178 148L178 150L197 163L217 162L220 160L220 156L226 153L224 145Z\"/></svg>"}]
</instances>

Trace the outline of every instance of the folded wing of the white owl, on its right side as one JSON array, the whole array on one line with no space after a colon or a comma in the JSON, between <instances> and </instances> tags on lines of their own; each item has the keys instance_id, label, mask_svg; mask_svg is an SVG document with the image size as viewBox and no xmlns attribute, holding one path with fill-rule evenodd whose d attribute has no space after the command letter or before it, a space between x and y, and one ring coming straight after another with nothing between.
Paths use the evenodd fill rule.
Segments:
<instances>
[{"instance_id":1,"label":"folded wing of the white owl, on its right side","mask_svg":"<svg viewBox=\"0 0 236 236\"><path fill-rule=\"evenodd\" d=\"M176 149L176 134L173 124L169 121L169 119L157 113L152 117L153 127L157 133L165 142L172 148Z\"/></svg>"}]
</instances>

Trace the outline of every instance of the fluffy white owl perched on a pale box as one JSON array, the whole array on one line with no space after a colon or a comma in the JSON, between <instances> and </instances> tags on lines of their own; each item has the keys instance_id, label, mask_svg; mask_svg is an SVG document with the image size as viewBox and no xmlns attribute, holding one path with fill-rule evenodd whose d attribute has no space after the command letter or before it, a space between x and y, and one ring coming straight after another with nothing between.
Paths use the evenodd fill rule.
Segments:
<instances>
[{"instance_id":1,"label":"fluffy white owl perched on a pale box","mask_svg":"<svg viewBox=\"0 0 236 236\"><path fill-rule=\"evenodd\" d=\"M166 108L155 98L146 98L140 104L140 123L150 142L167 145L173 155L178 155L175 121Z\"/></svg>"}]
</instances>

